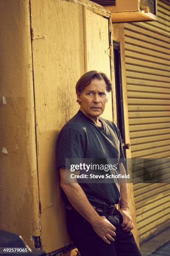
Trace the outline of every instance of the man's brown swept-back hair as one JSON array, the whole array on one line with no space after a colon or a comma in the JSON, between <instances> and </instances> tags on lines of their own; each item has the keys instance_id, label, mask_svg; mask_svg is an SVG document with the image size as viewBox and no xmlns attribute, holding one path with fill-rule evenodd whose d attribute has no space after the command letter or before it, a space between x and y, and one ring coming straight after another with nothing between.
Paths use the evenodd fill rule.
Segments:
<instances>
[{"instance_id":1,"label":"man's brown swept-back hair","mask_svg":"<svg viewBox=\"0 0 170 256\"><path fill-rule=\"evenodd\" d=\"M77 81L76 87L75 87L76 93L77 94L81 93L85 89L85 87L87 85L89 85L92 82L92 80L94 80L95 78L99 79L99 80L104 79L104 81L106 83L106 91L107 92L111 92L111 90L112 90L112 83L111 83L110 79L107 77L107 75L102 73L102 72L98 72L96 70L91 70L91 71L83 74L80 77L80 79Z\"/></svg>"}]
</instances>

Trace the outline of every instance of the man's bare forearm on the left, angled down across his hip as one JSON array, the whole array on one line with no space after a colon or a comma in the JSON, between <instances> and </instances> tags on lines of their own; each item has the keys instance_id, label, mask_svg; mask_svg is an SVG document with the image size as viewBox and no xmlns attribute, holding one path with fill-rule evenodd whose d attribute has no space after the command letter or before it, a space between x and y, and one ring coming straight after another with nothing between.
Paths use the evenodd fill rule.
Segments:
<instances>
[{"instance_id":1,"label":"man's bare forearm on the left, angled down across his hip","mask_svg":"<svg viewBox=\"0 0 170 256\"><path fill-rule=\"evenodd\" d=\"M87 221L93 223L100 218L95 209L90 204L84 191L77 183L61 184L62 189L67 195L71 205L79 212Z\"/></svg>"}]
</instances>

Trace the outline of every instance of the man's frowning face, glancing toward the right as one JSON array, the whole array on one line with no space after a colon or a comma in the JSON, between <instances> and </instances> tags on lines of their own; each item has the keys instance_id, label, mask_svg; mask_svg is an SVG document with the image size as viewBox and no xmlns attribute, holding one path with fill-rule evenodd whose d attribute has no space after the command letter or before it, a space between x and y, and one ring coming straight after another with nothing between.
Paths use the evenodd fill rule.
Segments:
<instances>
[{"instance_id":1,"label":"man's frowning face, glancing toward the right","mask_svg":"<svg viewBox=\"0 0 170 256\"><path fill-rule=\"evenodd\" d=\"M94 118L103 113L105 104L108 101L105 80L93 79L80 95L77 95L80 102L80 110L89 118Z\"/></svg>"}]
</instances>

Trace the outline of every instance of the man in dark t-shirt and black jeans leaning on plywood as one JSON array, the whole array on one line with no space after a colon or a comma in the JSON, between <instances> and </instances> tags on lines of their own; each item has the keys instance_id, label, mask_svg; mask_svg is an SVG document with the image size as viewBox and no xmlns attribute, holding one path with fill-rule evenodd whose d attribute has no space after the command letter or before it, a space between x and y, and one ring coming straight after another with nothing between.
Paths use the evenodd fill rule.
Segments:
<instances>
[{"instance_id":1,"label":"man in dark t-shirt and black jeans leaning on plywood","mask_svg":"<svg viewBox=\"0 0 170 256\"><path fill-rule=\"evenodd\" d=\"M67 183L65 159L117 159L125 174L118 128L101 118L112 84L102 72L90 71L76 84L80 110L62 128L57 140L57 168L67 198L67 229L81 256L140 256L130 232L133 221L128 184ZM120 210L115 204L120 203Z\"/></svg>"}]
</instances>

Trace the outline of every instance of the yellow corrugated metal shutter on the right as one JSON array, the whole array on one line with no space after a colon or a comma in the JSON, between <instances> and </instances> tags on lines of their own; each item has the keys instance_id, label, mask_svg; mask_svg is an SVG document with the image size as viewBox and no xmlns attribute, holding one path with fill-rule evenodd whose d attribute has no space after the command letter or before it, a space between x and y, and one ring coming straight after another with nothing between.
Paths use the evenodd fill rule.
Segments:
<instances>
[{"instance_id":1,"label":"yellow corrugated metal shutter on the right","mask_svg":"<svg viewBox=\"0 0 170 256\"><path fill-rule=\"evenodd\" d=\"M158 0L158 21L125 23L125 61L132 157L170 158L168 0ZM135 184L134 195L142 242L169 225L170 184Z\"/></svg>"}]
</instances>

